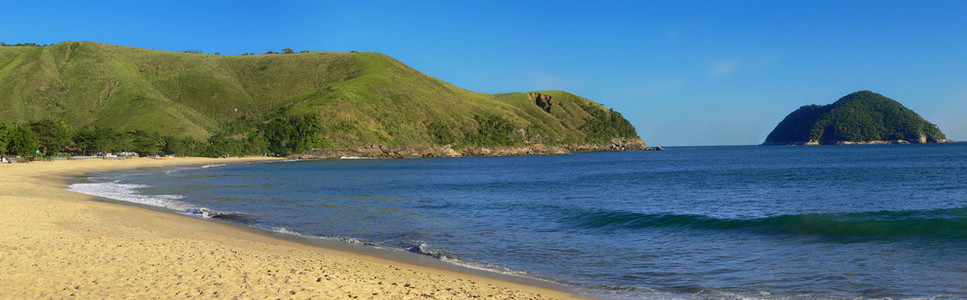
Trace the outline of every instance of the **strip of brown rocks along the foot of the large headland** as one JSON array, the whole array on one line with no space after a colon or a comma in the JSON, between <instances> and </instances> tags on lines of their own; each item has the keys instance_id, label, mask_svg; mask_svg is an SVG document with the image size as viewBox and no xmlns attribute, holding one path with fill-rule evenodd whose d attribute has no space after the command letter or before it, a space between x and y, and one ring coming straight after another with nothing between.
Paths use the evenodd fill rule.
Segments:
<instances>
[{"instance_id":1,"label":"strip of brown rocks along the foot of the large headland","mask_svg":"<svg viewBox=\"0 0 967 300\"><path fill-rule=\"evenodd\" d=\"M520 155L560 155L573 152L593 151L642 151L664 150L651 148L641 139L612 139L607 144L571 144L550 146L533 144L526 146L475 147L454 149L453 146L393 147L369 145L353 149L312 149L303 154L292 155L294 159L338 159L338 158L418 158L418 157L457 157L457 156L520 156Z\"/></svg>"}]
</instances>

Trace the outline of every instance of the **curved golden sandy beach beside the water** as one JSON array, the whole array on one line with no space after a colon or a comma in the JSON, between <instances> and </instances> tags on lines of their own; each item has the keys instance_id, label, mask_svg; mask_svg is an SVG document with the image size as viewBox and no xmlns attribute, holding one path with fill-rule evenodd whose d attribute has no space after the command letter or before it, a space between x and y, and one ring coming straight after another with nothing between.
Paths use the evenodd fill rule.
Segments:
<instances>
[{"instance_id":1,"label":"curved golden sandy beach beside the water","mask_svg":"<svg viewBox=\"0 0 967 300\"><path fill-rule=\"evenodd\" d=\"M555 299L566 292L93 201L71 178L266 158L0 165L0 298Z\"/></svg>"}]
</instances>

